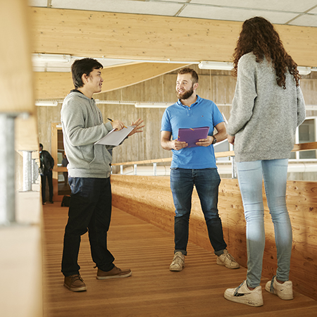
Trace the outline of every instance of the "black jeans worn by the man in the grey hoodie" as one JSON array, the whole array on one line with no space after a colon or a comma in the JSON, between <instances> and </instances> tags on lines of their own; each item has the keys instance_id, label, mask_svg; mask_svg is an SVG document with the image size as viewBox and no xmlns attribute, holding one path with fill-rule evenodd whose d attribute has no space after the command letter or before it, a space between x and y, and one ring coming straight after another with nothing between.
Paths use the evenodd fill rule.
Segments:
<instances>
[{"instance_id":1,"label":"black jeans worn by the man in the grey hoodie","mask_svg":"<svg viewBox=\"0 0 317 317\"><path fill-rule=\"evenodd\" d=\"M114 257L107 249L111 220L110 178L68 178L71 189L68 223L65 228L63 275L78 274L80 236L89 234L92 260L102 271L110 271Z\"/></svg>"}]
</instances>

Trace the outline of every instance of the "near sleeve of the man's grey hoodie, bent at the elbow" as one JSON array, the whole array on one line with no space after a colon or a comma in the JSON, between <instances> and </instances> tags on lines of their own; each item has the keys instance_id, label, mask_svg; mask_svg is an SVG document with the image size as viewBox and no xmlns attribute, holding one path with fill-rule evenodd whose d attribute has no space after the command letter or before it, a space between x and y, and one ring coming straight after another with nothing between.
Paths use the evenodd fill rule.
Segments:
<instances>
[{"instance_id":1,"label":"near sleeve of the man's grey hoodie, bent at the elbow","mask_svg":"<svg viewBox=\"0 0 317 317\"><path fill-rule=\"evenodd\" d=\"M75 101L68 101L63 105L62 123L74 147L94 144L112 130L111 123L101 123L85 128L85 121L88 120L88 113L85 110L85 107Z\"/></svg>"}]
</instances>

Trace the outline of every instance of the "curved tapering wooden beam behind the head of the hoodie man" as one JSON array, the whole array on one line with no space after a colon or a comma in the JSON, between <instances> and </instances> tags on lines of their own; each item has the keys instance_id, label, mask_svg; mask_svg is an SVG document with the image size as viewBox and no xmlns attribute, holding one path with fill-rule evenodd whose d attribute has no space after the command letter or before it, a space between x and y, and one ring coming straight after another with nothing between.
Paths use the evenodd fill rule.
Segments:
<instances>
[{"instance_id":1,"label":"curved tapering wooden beam behind the head of the hoodie man","mask_svg":"<svg viewBox=\"0 0 317 317\"><path fill-rule=\"evenodd\" d=\"M136 63L135 65L104 68L101 70L104 78L101 92L111 92L135 85L186 65L179 63ZM71 73L35 73L36 99L63 99L71 89L74 89ZM95 94L94 98L98 99L98 96L99 94Z\"/></svg>"}]
</instances>

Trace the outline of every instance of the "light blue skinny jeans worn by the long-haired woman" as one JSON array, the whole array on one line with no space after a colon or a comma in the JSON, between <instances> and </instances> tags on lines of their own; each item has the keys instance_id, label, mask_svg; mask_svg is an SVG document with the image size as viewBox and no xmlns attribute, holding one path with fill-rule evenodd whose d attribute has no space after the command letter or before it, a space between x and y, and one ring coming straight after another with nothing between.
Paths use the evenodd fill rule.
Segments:
<instances>
[{"instance_id":1,"label":"light blue skinny jeans worn by the long-haired woman","mask_svg":"<svg viewBox=\"0 0 317 317\"><path fill-rule=\"evenodd\" d=\"M247 285L260 285L265 244L262 179L274 224L278 253L276 278L287 281L292 251L292 225L286 207L287 159L237 163L237 175L247 221Z\"/></svg>"}]
</instances>

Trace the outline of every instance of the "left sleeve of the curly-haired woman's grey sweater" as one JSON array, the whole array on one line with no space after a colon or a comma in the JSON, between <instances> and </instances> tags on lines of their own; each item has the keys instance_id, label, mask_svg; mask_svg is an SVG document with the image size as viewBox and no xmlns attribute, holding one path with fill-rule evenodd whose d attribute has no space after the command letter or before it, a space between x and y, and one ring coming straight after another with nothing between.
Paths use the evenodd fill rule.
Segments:
<instances>
[{"instance_id":1,"label":"left sleeve of the curly-haired woman's grey sweater","mask_svg":"<svg viewBox=\"0 0 317 317\"><path fill-rule=\"evenodd\" d=\"M236 135L250 120L256 99L256 60L252 54L242 56L237 68L237 85L227 126L229 135Z\"/></svg>"}]
</instances>

